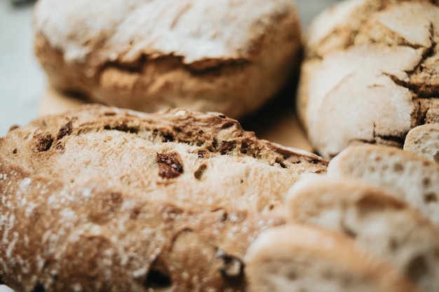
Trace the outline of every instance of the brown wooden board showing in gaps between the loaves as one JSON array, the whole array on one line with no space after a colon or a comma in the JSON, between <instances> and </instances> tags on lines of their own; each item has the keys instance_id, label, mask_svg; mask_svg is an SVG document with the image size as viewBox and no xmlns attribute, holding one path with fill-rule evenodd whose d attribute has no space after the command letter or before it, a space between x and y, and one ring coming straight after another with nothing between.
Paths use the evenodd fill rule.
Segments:
<instances>
[{"instance_id":1,"label":"brown wooden board showing in gaps between the loaves","mask_svg":"<svg viewBox=\"0 0 439 292\"><path fill-rule=\"evenodd\" d=\"M41 115L62 113L81 104L81 99L62 94L50 85L40 104ZM252 116L240 120L244 130L254 131L260 139L283 146L312 151L295 114L293 95L281 95Z\"/></svg>"}]
</instances>

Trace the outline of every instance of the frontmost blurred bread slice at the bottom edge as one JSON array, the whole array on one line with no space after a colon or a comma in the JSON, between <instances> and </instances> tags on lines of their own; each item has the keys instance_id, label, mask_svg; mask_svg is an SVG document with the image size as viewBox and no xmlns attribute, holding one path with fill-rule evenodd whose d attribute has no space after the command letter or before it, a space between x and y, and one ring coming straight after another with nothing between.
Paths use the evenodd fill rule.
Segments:
<instances>
[{"instance_id":1,"label":"frontmost blurred bread slice at the bottom edge","mask_svg":"<svg viewBox=\"0 0 439 292\"><path fill-rule=\"evenodd\" d=\"M266 230L245 264L252 292L417 291L349 237L305 225Z\"/></svg>"}]
</instances>

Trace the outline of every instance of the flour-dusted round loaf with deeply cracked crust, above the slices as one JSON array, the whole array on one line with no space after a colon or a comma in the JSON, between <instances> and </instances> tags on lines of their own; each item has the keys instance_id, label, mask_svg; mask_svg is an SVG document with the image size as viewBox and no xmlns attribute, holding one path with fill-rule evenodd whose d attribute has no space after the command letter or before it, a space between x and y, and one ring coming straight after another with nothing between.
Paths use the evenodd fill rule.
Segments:
<instances>
[{"instance_id":1,"label":"flour-dusted round loaf with deeply cracked crust, above the slices","mask_svg":"<svg viewBox=\"0 0 439 292\"><path fill-rule=\"evenodd\" d=\"M313 147L332 158L351 141L403 147L439 122L439 7L350 0L313 21L297 108Z\"/></svg>"}]
</instances>

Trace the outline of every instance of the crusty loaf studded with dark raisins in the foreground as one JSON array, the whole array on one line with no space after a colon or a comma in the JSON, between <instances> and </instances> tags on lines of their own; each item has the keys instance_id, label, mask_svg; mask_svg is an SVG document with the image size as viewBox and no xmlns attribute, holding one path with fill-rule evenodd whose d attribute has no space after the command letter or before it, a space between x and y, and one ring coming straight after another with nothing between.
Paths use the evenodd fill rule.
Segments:
<instances>
[{"instance_id":1,"label":"crusty loaf studded with dark raisins in the foreground","mask_svg":"<svg viewBox=\"0 0 439 292\"><path fill-rule=\"evenodd\" d=\"M83 106L0 138L0 274L20 292L245 291L242 256L327 161L220 114Z\"/></svg>"}]
</instances>

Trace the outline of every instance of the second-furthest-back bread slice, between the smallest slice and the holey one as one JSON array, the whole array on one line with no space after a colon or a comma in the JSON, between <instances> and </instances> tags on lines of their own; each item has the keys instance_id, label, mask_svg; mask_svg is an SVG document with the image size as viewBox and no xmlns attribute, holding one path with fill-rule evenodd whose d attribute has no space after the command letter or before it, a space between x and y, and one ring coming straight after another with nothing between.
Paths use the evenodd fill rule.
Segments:
<instances>
[{"instance_id":1,"label":"second-furthest-back bread slice, between the smallest slice and the holey one","mask_svg":"<svg viewBox=\"0 0 439 292\"><path fill-rule=\"evenodd\" d=\"M409 203L439 228L439 165L399 148L356 145L331 160L329 176L353 176Z\"/></svg>"}]
</instances>

